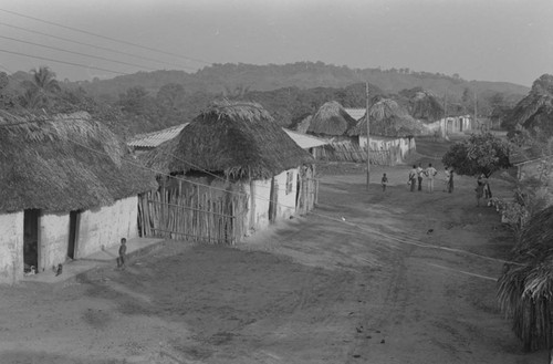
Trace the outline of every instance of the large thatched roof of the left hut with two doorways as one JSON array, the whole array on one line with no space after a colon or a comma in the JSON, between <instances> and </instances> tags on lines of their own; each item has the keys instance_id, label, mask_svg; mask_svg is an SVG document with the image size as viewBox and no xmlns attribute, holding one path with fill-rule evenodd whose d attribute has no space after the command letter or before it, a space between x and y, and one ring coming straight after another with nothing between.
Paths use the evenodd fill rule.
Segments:
<instances>
[{"instance_id":1,"label":"large thatched roof of the left hut with two doorways","mask_svg":"<svg viewBox=\"0 0 553 364\"><path fill-rule=\"evenodd\" d=\"M156 187L126 145L87 113L0 112L0 212L100 207Z\"/></svg>"}]
</instances>

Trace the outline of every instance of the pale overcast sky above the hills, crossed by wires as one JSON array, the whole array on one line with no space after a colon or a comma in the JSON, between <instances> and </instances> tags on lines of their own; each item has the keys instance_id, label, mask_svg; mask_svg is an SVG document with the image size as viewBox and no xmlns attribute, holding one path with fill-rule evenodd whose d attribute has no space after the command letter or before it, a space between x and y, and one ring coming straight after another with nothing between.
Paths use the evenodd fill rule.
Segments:
<instances>
[{"instance_id":1,"label":"pale overcast sky above the hills, crossed by wires","mask_svg":"<svg viewBox=\"0 0 553 364\"><path fill-rule=\"evenodd\" d=\"M4 37L0 38L0 67L14 72L49 65L60 80L117 75L93 67L121 73L195 72L209 63L299 61L409 67L526 86L543 73L553 73L552 0L0 0L0 35Z\"/></svg>"}]
</instances>

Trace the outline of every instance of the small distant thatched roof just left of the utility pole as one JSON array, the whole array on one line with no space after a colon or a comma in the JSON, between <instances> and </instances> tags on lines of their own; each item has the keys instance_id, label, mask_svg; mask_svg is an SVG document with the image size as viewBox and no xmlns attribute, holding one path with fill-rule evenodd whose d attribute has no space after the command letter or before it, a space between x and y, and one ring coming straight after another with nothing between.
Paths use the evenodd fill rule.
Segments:
<instances>
[{"instance_id":1,"label":"small distant thatched roof just left of the utility pole","mask_svg":"<svg viewBox=\"0 0 553 364\"><path fill-rule=\"evenodd\" d=\"M335 101L323 104L307 127L309 134L315 135L345 135L346 132L357 123L344 107Z\"/></svg>"}]
</instances>

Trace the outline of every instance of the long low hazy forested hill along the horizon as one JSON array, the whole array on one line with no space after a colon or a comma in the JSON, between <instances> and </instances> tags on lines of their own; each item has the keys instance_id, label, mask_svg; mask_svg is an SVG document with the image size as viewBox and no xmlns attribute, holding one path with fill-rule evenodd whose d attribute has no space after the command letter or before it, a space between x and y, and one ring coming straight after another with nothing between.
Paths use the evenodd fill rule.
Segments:
<instances>
[{"instance_id":1,"label":"long low hazy forested hill along the horizon","mask_svg":"<svg viewBox=\"0 0 553 364\"><path fill-rule=\"evenodd\" d=\"M482 95L502 93L505 96L525 95L530 91L529 87L507 82L469 82L457 74L415 72L409 69L358 70L322 62L296 62L283 65L213 64L196 73L184 71L138 72L109 80L95 79L92 82L79 82L79 85L90 95L113 98L133 86L142 86L155 94L168 83L181 84L187 93L221 94L237 87L247 91L272 91L282 87L346 87L365 81L386 93L422 87L439 96L442 96L447 90L449 95L457 97L461 97L466 89Z\"/></svg>"}]
</instances>

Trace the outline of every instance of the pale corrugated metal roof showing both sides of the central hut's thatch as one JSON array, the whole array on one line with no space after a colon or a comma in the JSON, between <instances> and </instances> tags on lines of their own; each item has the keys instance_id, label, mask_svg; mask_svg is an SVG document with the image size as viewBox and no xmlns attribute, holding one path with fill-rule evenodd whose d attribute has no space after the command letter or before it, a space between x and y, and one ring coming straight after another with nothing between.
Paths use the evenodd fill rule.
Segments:
<instances>
[{"instance_id":1,"label":"pale corrugated metal roof showing both sides of the central hut's thatch","mask_svg":"<svg viewBox=\"0 0 553 364\"><path fill-rule=\"evenodd\" d=\"M133 137L131 142L127 143L128 146L135 147L135 148L155 148L159 144L167 142L169 139L173 139L174 137L177 137L179 133L188 125L186 124L180 124L176 126L168 127L166 129L157 131L157 132L152 132L152 133L146 133L146 134L139 134ZM286 128L282 128L286 134L292 138L292 141L295 142L301 148L303 149L309 149L313 147L317 147L321 145L328 144L328 142L289 131Z\"/></svg>"}]
</instances>

